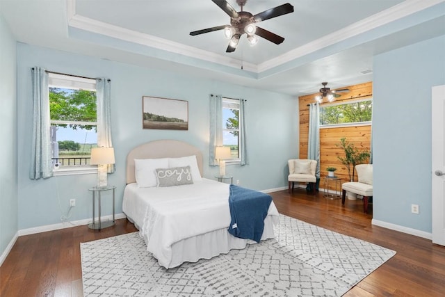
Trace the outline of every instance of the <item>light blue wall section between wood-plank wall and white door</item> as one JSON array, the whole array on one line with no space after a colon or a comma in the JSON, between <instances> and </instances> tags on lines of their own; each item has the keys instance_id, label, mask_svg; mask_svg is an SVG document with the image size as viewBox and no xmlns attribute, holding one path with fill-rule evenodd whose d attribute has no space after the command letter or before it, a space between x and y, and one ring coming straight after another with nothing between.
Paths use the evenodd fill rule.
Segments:
<instances>
[{"instance_id":1,"label":"light blue wall section between wood-plank wall and white door","mask_svg":"<svg viewBox=\"0 0 445 297\"><path fill-rule=\"evenodd\" d=\"M445 84L445 36L375 56L373 75L373 218L430 233L431 87Z\"/></svg>"}]
</instances>

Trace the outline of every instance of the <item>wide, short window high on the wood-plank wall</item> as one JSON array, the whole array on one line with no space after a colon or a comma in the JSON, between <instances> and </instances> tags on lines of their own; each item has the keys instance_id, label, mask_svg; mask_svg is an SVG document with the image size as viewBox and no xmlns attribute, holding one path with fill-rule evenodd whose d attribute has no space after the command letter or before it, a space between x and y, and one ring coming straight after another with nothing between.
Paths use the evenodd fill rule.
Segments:
<instances>
[{"instance_id":1,"label":"wide, short window high on the wood-plank wall","mask_svg":"<svg viewBox=\"0 0 445 297\"><path fill-rule=\"evenodd\" d=\"M370 125L372 99L320 106L320 126Z\"/></svg>"}]
</instances>

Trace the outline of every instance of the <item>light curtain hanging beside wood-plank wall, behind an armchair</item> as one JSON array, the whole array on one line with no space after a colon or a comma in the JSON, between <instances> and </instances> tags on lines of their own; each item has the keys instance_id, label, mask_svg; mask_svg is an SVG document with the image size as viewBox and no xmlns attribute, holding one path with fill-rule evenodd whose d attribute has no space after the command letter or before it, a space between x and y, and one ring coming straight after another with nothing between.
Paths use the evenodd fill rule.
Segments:
<instances>
[{"instance_id":1,"label":"light curtain hanging beside wood-plank wall, behind an armchair","mask_svg":"<svg viewBox=\"0 0 445 297\"><path fill-rule=\"evenodd\" d=\"M320 107L316 103L309 104L309 138L307 140L307 159L317 161L315 175L317 179L320 179Z\"/></svg>"}]
</instances>

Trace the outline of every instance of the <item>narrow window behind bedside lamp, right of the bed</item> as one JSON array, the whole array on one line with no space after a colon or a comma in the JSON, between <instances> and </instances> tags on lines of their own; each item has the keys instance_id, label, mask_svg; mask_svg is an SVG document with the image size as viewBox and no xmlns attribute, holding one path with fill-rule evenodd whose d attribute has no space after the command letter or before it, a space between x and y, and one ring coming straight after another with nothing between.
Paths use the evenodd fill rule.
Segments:
<instances>
[{"instance_id":1,"label":"narrow window behind bedside lamp, right of the bed","mask_svg":"<svg viewBox=\"0 0 445 297\"><path fill-rule=\"evenodd\" d=\"M230 147L232 159L226 161L240 161L240 133L239 133L239 109L238 99L223 97L223 145Z\"/></svg>"}]
</instances>

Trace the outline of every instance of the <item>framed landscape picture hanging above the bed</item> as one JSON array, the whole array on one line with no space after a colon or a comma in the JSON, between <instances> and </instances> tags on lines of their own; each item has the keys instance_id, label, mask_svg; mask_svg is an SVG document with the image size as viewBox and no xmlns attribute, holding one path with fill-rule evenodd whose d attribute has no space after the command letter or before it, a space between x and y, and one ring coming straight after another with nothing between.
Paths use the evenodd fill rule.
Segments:
<instances>
[{"instance_id":1,"label":"framed landscape picture hanging above the bed","mask_svg":"<svg viewBox=\"0 0 445 297\"><path fill-rule=\"evenodd\" d=\"M143 129L188 130L188 101L142 97Z\"/></svg>"}]
</instances>

